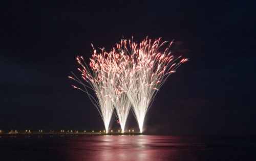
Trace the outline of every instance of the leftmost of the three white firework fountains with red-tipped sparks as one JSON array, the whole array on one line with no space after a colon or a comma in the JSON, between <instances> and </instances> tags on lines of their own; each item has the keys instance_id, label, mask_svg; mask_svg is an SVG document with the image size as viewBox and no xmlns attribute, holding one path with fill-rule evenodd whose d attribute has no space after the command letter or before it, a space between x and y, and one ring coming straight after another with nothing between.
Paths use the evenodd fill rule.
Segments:
<instances>
[{"instance_id":1,"label":"leftmost of the three white firework fountains with red-tipped sparks","mask_svg":"<svg viewBox=\"0 0 256 161\"><path fill-rule=\"evenodd\" d=\"M82 70L78 68L78 70L82 73L82 79L84 79L90 86L83 84L74 74L73 75L76 77L76 79L71 76L69 76L69 78L74 79L84 87L85 90L82 90L76 86L73 86L74 88L77 88L88 94L91 101L99 111L104 122L106 133L108 133L109 123L114 111L113 95L115 93L114 77L113 74L110 73L114 73L114 71L112 71L112 67L115 67L115 65L112 65L109 59L104 59L103 54L97 55L95 49L92 57L93 59L90 59L90 67L92 69L92 73L84 62L83 58L77 57L77 62L83 68ZM88 89L95 91L98 101L88 92Z\"/></svg>"}]
</instances>

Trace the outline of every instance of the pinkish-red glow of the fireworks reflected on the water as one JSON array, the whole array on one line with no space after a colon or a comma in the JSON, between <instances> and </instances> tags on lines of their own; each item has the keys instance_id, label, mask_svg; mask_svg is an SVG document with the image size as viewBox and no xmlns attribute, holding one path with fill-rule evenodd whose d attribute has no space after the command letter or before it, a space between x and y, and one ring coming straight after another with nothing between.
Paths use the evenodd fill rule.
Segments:
<instances>
[{"instance_id":1,"label":"pinkish-red glow of the fireworks reflected on the water","mask_svg":"<svg viewBox=\"0 0 256 161\"><path fill-rule=\"evenodd\" d=\"M67 154L79 160L197 160L195 147L179 136L84 137L69 147Z\"/></svg>"}]
</instances>

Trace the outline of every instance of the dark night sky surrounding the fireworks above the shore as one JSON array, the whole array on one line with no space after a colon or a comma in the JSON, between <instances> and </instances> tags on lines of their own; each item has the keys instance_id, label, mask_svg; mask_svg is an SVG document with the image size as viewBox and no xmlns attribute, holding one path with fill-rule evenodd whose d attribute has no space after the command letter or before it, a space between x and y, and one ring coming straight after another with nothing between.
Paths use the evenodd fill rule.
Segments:
<instances>
[{"instance_id":1,"label":"dark night sky surrounding the fireworks above the shore","mask_svg":"<svg viewBox=\"0 0 256 161\"><path fill-rule=\"evenodd\" d=\"M175 39L173 55L189 61L156 95L145 133L256 133L255 1L0 3L0 130L104 129L71 86L76 56L89 63L91 43L110 51L122 37L148 36ZM132 113L128 128L138 129Z\"/></svg>"}]
</instances>

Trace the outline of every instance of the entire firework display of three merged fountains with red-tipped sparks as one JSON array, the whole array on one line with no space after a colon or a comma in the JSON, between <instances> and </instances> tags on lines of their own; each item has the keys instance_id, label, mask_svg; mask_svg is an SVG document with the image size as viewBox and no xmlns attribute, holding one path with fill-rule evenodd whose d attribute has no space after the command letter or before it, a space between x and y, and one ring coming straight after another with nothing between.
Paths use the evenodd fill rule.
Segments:
<instances>
[{"instance_id":1,"label":"entire firework display of three merged fountains with red-tipped sparks","mask_svg":"<svg viewBox=\"0 0 256 161\"><path fill-rule=\"evenodd\" d=\"M83 89L73 86L88 94L89 98L99 111L108 131L114 109L118 123L124 132L127 116L132 110L140 132L143 132L145 115L150 109L157 91L166 81L167 77L176 72L176 69L187 58L175 57L169 51L170 42L164 52L159 48L167 41L160 42L160 38L152 41L144 39L140 44L132 40L121 39L117 48L106 52L100 48L97 53L94 49L90 59L90 68L83 57L77 57L77 62L82 66L78 68L81 79L73 72L74 79ZM85 83L83 83L85 81ZM93 90L97 96L90 94Z\"/></svg>"}]
</instances>

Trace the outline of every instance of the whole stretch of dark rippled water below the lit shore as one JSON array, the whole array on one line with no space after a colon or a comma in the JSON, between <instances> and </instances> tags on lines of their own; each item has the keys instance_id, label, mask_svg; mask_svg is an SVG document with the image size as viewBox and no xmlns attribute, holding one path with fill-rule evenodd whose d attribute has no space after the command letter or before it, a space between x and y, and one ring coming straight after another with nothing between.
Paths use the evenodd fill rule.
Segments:
<instances>
[{"instance_id":1,"label":"whole stretch of dark rippled water below the lit shore","mask_svg":"<svg viewBox=\"0 0 256 161\"><path fill-rule=\"evenodd\" d=\"M256 160L256 137L2 137L0 160Z\"/></svg>"}]
</instances>

